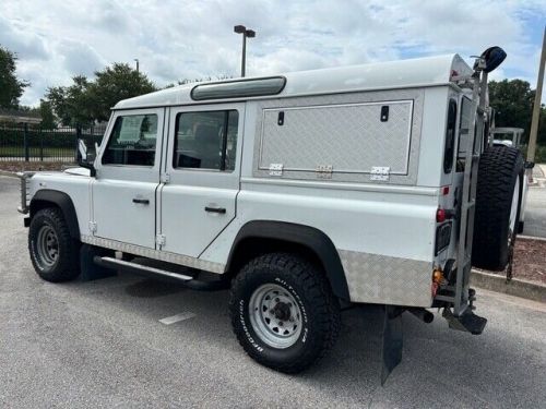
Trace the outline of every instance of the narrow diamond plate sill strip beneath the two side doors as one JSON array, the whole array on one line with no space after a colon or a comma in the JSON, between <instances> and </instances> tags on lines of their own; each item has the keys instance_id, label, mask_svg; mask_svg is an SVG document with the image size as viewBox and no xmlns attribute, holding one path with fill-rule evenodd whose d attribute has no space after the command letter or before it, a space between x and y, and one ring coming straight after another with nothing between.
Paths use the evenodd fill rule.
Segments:
<instances>
[{"instance_id":1,"label":"narrow diamond plate sill strip beneath the two side doors","mask_svg":"<svg viewBox=\"0 0 546 409\"><path fill-rule=\"evenodd\" d=\"M225 272L224 264L207 262L205 260L194 258L188 255L175 254L166 251L143 248L135 244L122 243L120 241L103 239L94 236L82 234L81 241L82 243L96 245L99 248L118 250L147 258L155 258L167 263L180 264L187 267L203 269L205 272L217 273L217 274L222 274Z\"/></svg>"}]
</instances>

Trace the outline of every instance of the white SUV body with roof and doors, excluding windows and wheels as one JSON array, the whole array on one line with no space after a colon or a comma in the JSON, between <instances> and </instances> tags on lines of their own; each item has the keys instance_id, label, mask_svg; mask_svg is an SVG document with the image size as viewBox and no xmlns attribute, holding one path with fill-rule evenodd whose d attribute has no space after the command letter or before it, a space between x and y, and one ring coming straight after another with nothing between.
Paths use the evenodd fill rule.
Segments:
<instances>
[{"instance_id":1,"label":"white SUV body with roof and doors, excluding windows and wheels","mask_svg":"<svg viewBox=\"0 0 546 409\"><path fill-rule=\"evenodd\" d=\"M453 71L471 70L447 56L290 73L278 95L246 101L197 104L191 84L123 100L97 153L96 177L40 172L29 196L44 188L66 192L84 243L217 274L246 224L309 226L337 250L351 301L430 306L432 270L455 252L451 240L435 255L436 213L454 194L442 195L442 187L459 182L442 170L448 101L464 97ZM385 106L390 118L381 122ZM177 117L230 110L238 113L234 169L174 168ZM285 112L282 127L277 112ZM157 117L153 166L103 165L116 121L133 116ZM375 178L377 168L389 171Z\"/></svg>"}]
</instances>

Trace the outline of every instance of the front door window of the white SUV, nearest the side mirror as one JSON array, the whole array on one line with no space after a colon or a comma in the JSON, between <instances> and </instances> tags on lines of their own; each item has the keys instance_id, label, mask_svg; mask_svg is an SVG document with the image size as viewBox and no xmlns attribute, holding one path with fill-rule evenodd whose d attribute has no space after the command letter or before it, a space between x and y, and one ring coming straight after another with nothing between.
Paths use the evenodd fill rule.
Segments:
<instances>
[{"instance_id":1,"label":"front door window of the white SUV, nearest the side mirror","mask_svg":"<svg viewBox=\"0 0 546 409\"><path fill-rule=\"evenodd\" d=\"M103 154L103 165L154 166L157 116L118 117Z\"/></svg>"}]
</instances>

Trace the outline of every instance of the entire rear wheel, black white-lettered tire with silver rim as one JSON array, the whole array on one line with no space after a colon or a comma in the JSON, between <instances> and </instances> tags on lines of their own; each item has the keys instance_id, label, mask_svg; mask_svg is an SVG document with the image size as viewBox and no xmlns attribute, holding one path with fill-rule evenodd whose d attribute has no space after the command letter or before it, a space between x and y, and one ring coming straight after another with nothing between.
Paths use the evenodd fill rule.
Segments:
<instances>
[{"instance_id":1,"label":"entire rear wheel, black white-lettered tire with silver rim","mask_svg":"<svg viewBox=\"0 0 546 409\"><path fill-rule=\"evenodd\" d=\"M321 359L340 333L340 304L308 261L272 253L248 263L232 287L234 333L259 363L285 373Z\"/></svg>"}]
</instances>

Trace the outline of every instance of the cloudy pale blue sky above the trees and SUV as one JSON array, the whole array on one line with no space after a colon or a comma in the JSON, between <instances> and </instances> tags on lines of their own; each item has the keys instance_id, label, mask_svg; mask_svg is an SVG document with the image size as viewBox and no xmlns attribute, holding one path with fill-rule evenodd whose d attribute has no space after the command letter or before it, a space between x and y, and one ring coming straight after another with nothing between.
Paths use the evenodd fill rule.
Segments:
<instances>
[{"instance_id":1,"label":"cloudy pale blue sky above the trees and SUV","mask_svg":"<svg viewBox=\"0 0 546 409\"><path fill-rule=\"evenodd\" d=\"M2 0L0 45L17 53L17 74L32 83L25 105L73 75L135 58L158 86L236 76L236 24L258 33L248 44L247 75L449 52L467 58L499 45L509 57L494 79L534 86L545 22L542 0Z\"/></svg>"}]
</instances>

